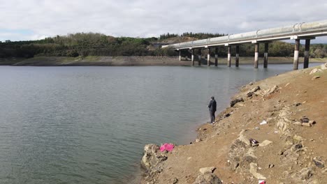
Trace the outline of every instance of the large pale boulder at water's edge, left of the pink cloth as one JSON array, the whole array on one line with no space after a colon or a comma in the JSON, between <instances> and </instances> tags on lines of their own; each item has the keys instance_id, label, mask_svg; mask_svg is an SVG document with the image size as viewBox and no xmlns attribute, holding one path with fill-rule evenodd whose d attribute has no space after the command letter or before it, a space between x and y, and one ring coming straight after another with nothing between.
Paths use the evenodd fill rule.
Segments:
<instances>
[{"instance_id":1,"label":"large pale boulder at water's edge, left of the pink cloth","mask_svg":"<svg viewBox=\"0 0 327 184\"><path fill-rule=\"evenodd\" d=\"M144 146L144 155L141 160L141 165L148 171L156 167L160 162L167 160L167 156L160 151L156 144L147 144Z\"/></svg>"}]
</instances>

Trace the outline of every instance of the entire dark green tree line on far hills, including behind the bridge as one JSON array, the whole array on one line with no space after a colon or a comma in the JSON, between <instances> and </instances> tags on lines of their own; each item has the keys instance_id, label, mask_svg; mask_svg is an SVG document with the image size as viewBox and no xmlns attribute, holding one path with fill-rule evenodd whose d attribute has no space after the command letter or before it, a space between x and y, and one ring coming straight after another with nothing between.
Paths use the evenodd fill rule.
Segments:
<instances>
[{"instance_id":1,"label":"entire dark green tree line on far hills, including behind the bridge","mask_svg":"<svg viewBox=\"0 0 327 184\"><path fill-rule=\"evenodd\" d=\"M168 35L168 34L167 34ZM172 34L177 36L177 34ZM169 34L169 36L171 36ZM218 33L183 33L182 36L205 37L224 36ZM179 36L180 37L180 36ZM43 40L18 41L0 43L0 57L25 57L34 56L177 56L172 49L157 47L161 38L115 38L101 33L75 33L66 36L55 36ZM154 43L154 44L152 44ZM293 56L294 45L284 42L269 44L269 56ZM203 49L203 54L206 54ZM212 50L212 54L213 54ZM263 44L259 47L259 56L263 56ZM189 52L183 52L189 54ZM232 47L235 53L235 47ZM304 46L300 46L300 56L303 56ZM227 48L219 47L219 56L227 55ZM254 56L253 44L240 45L240 56ZM313 44L310 46L310 56L323 58L327 56L327 45Z\"/></svg>"}]
</instances>

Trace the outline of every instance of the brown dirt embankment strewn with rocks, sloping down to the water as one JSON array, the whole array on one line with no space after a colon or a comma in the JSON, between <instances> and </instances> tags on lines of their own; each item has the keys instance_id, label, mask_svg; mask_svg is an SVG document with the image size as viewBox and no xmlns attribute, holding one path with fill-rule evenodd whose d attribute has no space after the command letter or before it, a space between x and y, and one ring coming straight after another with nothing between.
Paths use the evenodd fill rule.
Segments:
<instances>
[{"instance_id":1,"label":"brown dirt embankment strewn with rocks, sloping down to the water","mask_svg":"<svg viewBox=\"0 0 327 184\"><path fill-rule=\"evenodd\" d=\"M189 145L145 146L141 183L326 183L326 67L243 86Z\"/></svg>"}]
</instances>

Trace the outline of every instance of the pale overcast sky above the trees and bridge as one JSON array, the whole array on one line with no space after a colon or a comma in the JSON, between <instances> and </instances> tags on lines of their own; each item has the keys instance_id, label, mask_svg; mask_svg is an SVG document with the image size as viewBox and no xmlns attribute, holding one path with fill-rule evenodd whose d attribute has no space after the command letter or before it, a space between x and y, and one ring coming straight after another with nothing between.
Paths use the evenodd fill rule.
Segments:
<instances>
[{"instance_id":1,"label":"pale overcast sky above the trees and bridge","mask_svg":"<svg viewBox=\"0 0 327 184\"><path fill-rule=\"evenodd\" d=\"M0 40L66 33L152 37L161 33L242 33L327 19L326 0L2 0ZM314 43L327 43L317 38Z\"/></svg>"}]
</instances>

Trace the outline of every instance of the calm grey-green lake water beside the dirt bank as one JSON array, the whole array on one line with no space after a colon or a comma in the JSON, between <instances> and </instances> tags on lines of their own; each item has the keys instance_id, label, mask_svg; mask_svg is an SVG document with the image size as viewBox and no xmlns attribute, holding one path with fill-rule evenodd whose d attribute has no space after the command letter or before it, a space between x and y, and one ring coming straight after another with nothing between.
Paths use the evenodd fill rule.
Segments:
<instances>
[{"instance_id":1,"label":"calm grey-green lake water beside the dirt bank","mask_svg":"<svg viewBox=\"0 0 327 184\"><path fill-rule=\"evenodd\" d=\"M0 183L124 183L145 144L195 139L210 96L292 69L268 67L0 66Z\"/></svg>"}]
</instances>

